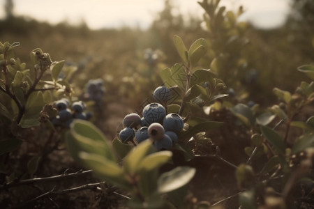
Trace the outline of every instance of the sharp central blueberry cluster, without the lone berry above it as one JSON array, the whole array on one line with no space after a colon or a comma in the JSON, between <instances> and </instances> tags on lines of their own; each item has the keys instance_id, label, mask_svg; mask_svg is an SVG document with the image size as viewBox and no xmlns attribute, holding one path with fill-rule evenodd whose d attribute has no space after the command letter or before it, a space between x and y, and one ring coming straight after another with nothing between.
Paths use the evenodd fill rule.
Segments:
<instances>
[{"instance_id":1,"label":"sharp central blueberry cluster, without the lone berry above it","mask_svg":"<svg viewBox=\"0 0 314 209\"><path fill-rule=\"evenodd\" d=\"M119 133L121 141L127 143L135 139L140 144L151 139L154 140L157 150L170 149L177 143L177 134L184 127L184 121L179 114L166 114L165 107L159 103L147 104L142 114L142 118L135 113L124 117L125 128Z\"/></svg>"}]
</instances>

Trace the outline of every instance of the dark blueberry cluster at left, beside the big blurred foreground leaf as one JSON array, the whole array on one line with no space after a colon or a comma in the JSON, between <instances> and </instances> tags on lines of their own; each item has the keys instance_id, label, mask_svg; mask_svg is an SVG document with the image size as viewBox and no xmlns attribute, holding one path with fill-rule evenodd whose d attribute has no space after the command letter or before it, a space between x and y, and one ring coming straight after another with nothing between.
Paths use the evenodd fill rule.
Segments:
<instances>
[{"instance_id":1,"label":"dark blueberry cluster at left, beside the big blurred foreground leaf","mask_svg":"<svg viewBox=\"0 0 314 209\"><path fill-rule=\"evenodd\" d=\"M62 98L55 102L54 105L59 111L59 115L51 120L55 126L69 127L73 119L89 120L92 116L90 112L84 112L86 105L82 101L73 102L70 105L68 99Z\"/></svg>"}]
</instances>

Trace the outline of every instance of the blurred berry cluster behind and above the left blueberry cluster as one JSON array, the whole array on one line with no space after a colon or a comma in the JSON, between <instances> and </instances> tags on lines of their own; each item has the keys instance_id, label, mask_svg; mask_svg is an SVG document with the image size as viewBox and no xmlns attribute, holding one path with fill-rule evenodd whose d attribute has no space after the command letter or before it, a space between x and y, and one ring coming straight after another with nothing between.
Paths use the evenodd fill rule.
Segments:
<instances>
[{"instance_id":1,"label":"blurred berry cluster behind and above the left blueberry cluster","mask_svg":"<svg viewBox=\"0 0 314 209\"><path fill-rule=\"evenodd\" d=\"M94 100L100 103L105 94L105 86L103 86L103 79L90 79L85 85L84 98L87 100Z\"/></svg>"}]
</instances>

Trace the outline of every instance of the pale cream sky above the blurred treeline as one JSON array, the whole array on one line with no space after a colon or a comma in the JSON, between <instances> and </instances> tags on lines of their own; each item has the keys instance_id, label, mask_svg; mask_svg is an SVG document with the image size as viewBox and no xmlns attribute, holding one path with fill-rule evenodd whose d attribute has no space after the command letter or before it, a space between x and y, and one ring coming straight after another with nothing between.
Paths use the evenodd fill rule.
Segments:
<instances>
[{"instance_id":1,"label":"pale cream sky above the blurred treeline","mask_svg":"<svg viewBox=\"0 0 314 209\"><path fill-rule=\"evenodd\" d=\"M202 0L198 0L202 1ZM149 26L156 14L163 10L163 0L13 0L15 15L27 15L57 24L67 20L79 24L84 20L91 29L119 26ZM252 22L263 29L271 29L285 22L290 0L221 0L220 5L236 10L244 6L246 13L240 20ZM0 18L5 0L0 0ZM173 0L182 14L202 17L204 10L197 0Z\"/></svg>"}]
</instances>

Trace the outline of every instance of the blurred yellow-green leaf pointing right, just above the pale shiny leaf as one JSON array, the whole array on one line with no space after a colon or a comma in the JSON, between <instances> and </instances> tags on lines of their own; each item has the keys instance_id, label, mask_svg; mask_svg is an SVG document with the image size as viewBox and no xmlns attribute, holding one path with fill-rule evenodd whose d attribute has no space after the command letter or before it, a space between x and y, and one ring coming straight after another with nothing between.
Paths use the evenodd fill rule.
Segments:
<instances>
[{"instance_id":1,"label":"blurred yellow-green leaf pointing right, just above the pale shiny leaf","mask_svg":"<svg viewBox=\"0 0 314 209\"><path fill-rule=\"evenodd\" d=\"M153 153L144 157L144 159L138 165L138 170L141 171L151 171L154 169L158 169L160 166L169 162L172 157L172 152L170 151L160 151L157 153Z\"/></svg>"}]
</instances>

